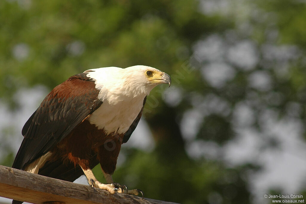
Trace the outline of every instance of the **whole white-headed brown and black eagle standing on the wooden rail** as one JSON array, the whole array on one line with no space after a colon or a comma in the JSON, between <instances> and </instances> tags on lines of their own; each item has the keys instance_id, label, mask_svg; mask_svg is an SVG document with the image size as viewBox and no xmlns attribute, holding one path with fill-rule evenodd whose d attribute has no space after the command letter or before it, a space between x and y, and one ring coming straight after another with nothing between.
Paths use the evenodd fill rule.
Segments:
<instances>
[{"instance_id":1,"label":"whole white-headed brown and black eagle standing on the wooden rail","mask_svg":"<svg viewBox=\"0 0 306 204\"><path fill-rule=\"evenodd\" d=\"M12 167L71 182L85 174L92 187L122 193L112 179L121 144L135 130L147 95L161 83L170 86L170 76L143 65L89 69L71 76L24 124ZM98 163L107 184L91 171Z\"/></svg>"}]
</instances>

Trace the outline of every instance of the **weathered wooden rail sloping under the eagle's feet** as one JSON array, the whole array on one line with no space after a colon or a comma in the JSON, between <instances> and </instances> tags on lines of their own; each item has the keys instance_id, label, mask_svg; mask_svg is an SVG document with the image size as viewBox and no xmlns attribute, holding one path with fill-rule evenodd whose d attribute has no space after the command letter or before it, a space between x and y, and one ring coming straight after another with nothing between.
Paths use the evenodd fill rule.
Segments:
<instances>
[{"instance_id":1,"label":"weathered wooden rail sloping under the eagle's feet","mask_svg":"<svg viewBox=\"0 0 306 204\"><path fill-rule=\"evenodd\" d=\"M30 203L171 203L41 176L0 165L0 196Z\"/></svg>"}]
</instances>

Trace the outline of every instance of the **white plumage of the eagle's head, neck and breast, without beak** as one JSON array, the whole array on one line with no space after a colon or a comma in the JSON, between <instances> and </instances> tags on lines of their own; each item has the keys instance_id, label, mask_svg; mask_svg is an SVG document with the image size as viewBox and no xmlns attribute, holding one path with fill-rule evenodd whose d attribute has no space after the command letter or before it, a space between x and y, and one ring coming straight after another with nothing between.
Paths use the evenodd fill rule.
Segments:
<instances>
[{"instance_id":1,"label":"white plumage of the eagle's head, neck and breast, without beak","mask_svg":"<svg viewBox=\"0 0 306 204\"><path fill-rule=\"evenodd\" d=\"M89 122L106 134L126 132L140 112L144 97L158 85L147 79L147 70L160 72L143 65L86 70L84 73L95 80L95 88L100 90L98 98L103 102L88 118Z\"/></svg>"}]
</instances>

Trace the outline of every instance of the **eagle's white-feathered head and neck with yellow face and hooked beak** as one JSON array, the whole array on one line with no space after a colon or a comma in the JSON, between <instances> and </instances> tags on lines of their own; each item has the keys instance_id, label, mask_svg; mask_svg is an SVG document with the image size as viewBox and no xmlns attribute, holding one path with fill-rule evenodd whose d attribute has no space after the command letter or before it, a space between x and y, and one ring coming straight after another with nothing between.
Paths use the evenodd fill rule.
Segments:
<instances>
[{"instance_id":1,"label":"eagle's white-feathered head and neck with yellow face and hooked beak","mask_svg":"<svg viewBox=\"0 0 306 204\"><path fill-rule=\"evenodd\" d=\"M161 83L171 85L171 77L158 69L144 65L135 65L125 69L119 67L104 67L89 69L84 73L95 80L96 88L101 90L100 96L106 98L119 95L137 97L148 95Z\"/></svg>"}]
</instances>

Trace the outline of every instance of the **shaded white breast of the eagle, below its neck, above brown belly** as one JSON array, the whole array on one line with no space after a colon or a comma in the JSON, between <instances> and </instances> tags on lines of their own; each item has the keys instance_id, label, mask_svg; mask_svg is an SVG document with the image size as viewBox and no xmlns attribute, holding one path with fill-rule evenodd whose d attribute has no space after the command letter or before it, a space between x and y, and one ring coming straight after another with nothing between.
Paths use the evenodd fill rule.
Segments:
<instances>
[{"instance_id":1,"label":"shaded white breast of the eagle, below its neck, above brown belly","mask_svg":"<svg viewBox=\"0 0 306 204\"><path fill-rule=\"evenodd\" d=\"M144 97L125 98L116 104L104 101L88 118L91 124L106 134L122 134L128 131L143 106Z\"/></svg>"}]
</instances>

